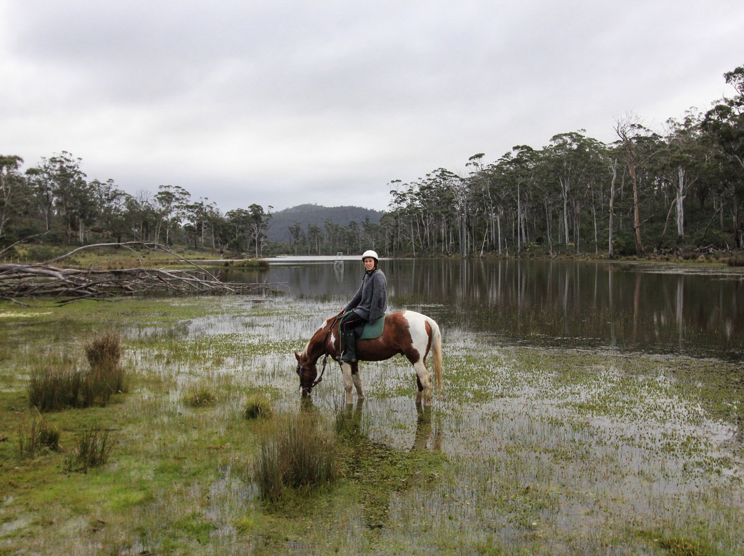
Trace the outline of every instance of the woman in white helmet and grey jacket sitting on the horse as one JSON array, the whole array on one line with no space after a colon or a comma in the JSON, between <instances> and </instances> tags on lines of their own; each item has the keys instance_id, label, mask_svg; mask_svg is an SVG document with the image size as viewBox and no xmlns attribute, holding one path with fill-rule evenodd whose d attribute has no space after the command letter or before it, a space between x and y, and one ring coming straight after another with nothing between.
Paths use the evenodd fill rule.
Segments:
<instances>
[{"instance_id":1,"label":"woman in white helmet and grey jacket sitting on the horse","mask_svg":"<svg viewBox=\"0 0 744 556\"><path fill-rule=\"evenodd\" d=\"M373 323L388 310L388 280L377 268L379 257L371 249L362 254L365 275L362 284L344 307L344 316L339 321L339 333L344 342L341 361L356 363L356 335L354 329L365 323Z\"/></svg>"}]
</instances>

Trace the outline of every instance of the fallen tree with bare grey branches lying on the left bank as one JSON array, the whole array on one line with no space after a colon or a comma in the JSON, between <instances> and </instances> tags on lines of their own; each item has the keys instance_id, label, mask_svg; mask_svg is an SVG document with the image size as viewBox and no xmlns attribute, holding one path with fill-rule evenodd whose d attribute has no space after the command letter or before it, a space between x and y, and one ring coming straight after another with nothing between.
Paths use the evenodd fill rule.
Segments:
<instances>
[{"instance_id":1,"label":"fallen tree with bare grey branches lying on the left bank","mask_svg":"<svg viewBox=\"0 0 744 556\"><path fill-rule=\"evenodd\" d=\"M12 247L12 246L11 246ZM55 265L83 249L117 247L135 251L135 247L163 250L180 259L188 268L147 268L144 266L121 269L63 268ZM0 252L0 256L3 252ZM158 243L124 242L97 243L71 250L41 263L0 262L0 299L52 297L60 303L81 299L105 299L116 295L167 294L266 294L278 292L280 284L259 282L224 282L196 263L173 253Z\"/></svg>"}]
</instances>

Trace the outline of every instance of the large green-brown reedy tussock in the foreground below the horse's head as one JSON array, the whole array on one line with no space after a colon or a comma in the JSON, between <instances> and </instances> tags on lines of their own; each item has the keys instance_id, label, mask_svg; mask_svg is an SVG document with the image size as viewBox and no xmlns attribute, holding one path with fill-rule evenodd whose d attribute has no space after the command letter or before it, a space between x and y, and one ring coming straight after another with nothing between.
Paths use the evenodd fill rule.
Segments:
<instances>
[{"instance_id":1,"label":"large green-brown reedy tussock in the foreground below the horse's head","mask_svg":"<svg viewBox=\"0 0 744 556\"><path fill-rule=\"evenodd\" d=\"M263 438L254 468L261 500L277 502L288 489L310 491L339 474L336 446L311 416L292 416Z\"/></svg>"}]
</instances>

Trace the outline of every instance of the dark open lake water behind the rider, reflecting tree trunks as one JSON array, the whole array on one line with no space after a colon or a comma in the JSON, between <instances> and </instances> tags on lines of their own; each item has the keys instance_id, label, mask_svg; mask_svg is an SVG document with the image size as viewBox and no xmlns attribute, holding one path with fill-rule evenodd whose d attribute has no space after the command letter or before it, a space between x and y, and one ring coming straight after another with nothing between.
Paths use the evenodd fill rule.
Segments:
<instances>
[{"instance_id":1,"label":"dark open lake water behind the rider, reflecting tree trunks","mask_svg":"<svg viewBox=\"0 0 744 556\"><path fill-rule=\"evenodd\" d=\"M271 259L231 281L282 283L298 298L338 300L361 262ZM390 310L434 317L448 334L496 342L744 361L744 269L567 260L383 259Z\"/></svg>"}]
</instances>

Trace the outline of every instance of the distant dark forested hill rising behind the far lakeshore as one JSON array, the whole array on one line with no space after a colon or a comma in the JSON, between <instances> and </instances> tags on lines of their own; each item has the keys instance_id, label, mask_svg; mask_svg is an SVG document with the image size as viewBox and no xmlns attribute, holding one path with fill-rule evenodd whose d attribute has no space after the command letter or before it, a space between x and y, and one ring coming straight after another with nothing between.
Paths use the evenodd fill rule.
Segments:
<instances>
[{"instance_id":1,"label":"distant dark forested hill rising behind the far lakeshore","mask_svg":"<svg viewBox=\"0 0 744 556\"><path fill-rule=\"evenodd\" d=\"M289 227L297 224L307 232L308 224L315 224L323 229L326 220L335 222L339 226L347 226L350 222L362 224L369 217L370 222L379 224L382 217L381 210L365 209L362 207L322 207L318 204L299 204L272 213L269 224L269 241L289 243Z\"/></svg>"}]
</instances>

